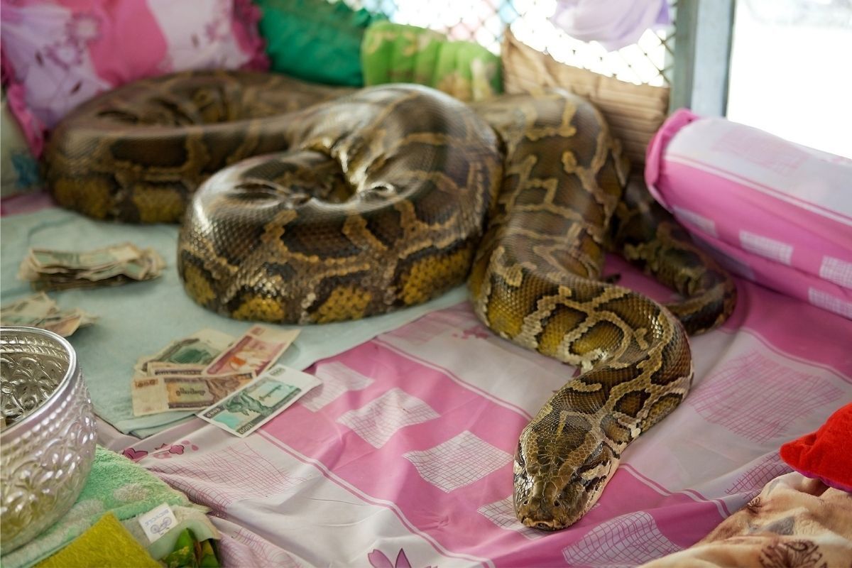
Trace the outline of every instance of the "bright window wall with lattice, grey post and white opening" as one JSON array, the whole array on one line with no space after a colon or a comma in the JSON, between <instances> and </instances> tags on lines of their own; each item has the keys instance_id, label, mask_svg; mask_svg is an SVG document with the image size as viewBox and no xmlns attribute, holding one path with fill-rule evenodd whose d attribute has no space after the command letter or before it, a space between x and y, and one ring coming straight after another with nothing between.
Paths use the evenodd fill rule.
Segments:
<instances>
[{"instance_id":1,"label":"bright window wall with lattice, grey post and white opening","mask_svg":"<svg viewBox=\"0 0 852 568\"><path fill-rule=\"evenodd\" d=\"M670 0L672 14L683 16L676 29L648 31L612 52L550 23L556 0L344 1L495 53L510 26L563 63L633 83L671 83L673 106L718 115L727 104L735 122L852 158L852 0Z\"/></svg>"}]
</instances>

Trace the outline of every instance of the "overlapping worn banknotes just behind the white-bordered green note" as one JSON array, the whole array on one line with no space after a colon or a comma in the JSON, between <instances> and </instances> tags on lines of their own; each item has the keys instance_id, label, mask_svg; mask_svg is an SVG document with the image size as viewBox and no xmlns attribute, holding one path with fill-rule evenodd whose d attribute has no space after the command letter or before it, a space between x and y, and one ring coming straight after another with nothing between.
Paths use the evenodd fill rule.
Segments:
<instances>
[{"instance_id":1,"label":"overlapping worn banknotes just behind the white-bordered green note","mask_svg":"<svg viewBox=\"0 0 852 568\"><path fill-rule=\"evenodd\" d=\"M205 329L171 341L136 362L133 414L203 410L260 376L298 335L252 325L239 338Z\"/></svg>"}]
</instances>

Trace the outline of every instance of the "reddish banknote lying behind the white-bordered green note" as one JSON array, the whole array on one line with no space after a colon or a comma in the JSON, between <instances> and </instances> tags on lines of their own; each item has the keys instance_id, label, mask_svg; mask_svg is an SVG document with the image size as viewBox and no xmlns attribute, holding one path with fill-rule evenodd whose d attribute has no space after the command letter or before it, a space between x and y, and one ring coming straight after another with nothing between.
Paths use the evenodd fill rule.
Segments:
<instances>
[{"instance_id":1,"label":"reddish banknote lying behind the white-bordered green note","mask_svg":"<svg viewBox=\"0 0 852 568\"><path fill-rule=\"evenodd\" d=\"M219 354L204 370L207 375L255 373L260 375L284 353L299 330L278 330L252 325L242 337Z\"/></svg>"}]
</instances>

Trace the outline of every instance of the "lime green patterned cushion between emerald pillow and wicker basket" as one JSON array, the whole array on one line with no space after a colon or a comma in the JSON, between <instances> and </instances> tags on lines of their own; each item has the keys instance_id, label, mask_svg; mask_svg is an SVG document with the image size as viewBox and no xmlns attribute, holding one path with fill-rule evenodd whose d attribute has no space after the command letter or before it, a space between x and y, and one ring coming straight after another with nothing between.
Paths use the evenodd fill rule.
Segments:
<instances>
[{"instance_id":1,"label":"lime green patterned cushion between emerald pillow and wicker basket","mask_svg":"<svg viewBox=\"0 0 852 568\"><path fill-rule=\"evenodd\" d=\"M361 43L364 83L419 83L459 100L485 100L503 92L500 58L479 43L450 41L417 26L377 21Z\"/></svg>"}]
</instances>

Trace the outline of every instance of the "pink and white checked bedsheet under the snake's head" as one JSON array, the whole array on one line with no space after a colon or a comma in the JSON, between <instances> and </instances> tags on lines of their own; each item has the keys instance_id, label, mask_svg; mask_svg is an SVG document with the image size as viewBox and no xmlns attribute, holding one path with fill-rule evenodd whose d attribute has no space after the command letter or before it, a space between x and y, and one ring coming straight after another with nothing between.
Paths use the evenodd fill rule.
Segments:
<instances>
[{"instance_id":1,"label":"pink and white checked bedsheet under the snake's head","mask_svg":"<svg viewBox=\"0 0 852 568\"><path fill-rule=\"evenodd\" d=\"M852 321L756 284L692 345L687 401L555 533L515 520L512 454L573 370L466 303L315 364L323 385L246 439L196 420L124 451L213 509L226 565L637 565L705 536L789 471L780 444L852 399Z\"/></svg>"}]
</instances>

